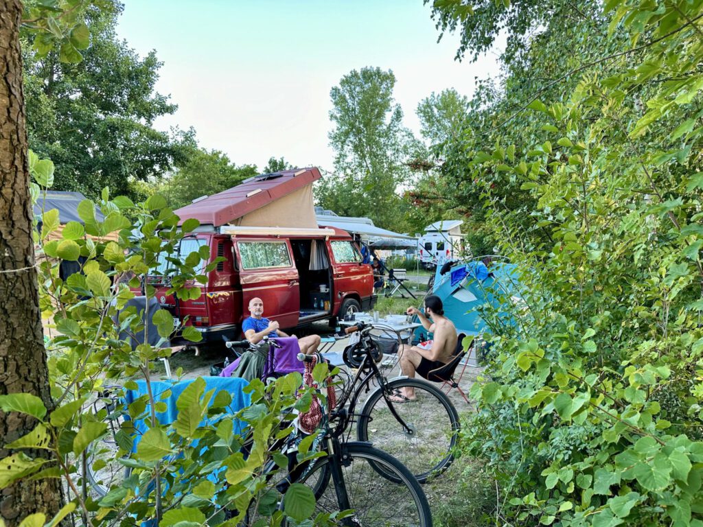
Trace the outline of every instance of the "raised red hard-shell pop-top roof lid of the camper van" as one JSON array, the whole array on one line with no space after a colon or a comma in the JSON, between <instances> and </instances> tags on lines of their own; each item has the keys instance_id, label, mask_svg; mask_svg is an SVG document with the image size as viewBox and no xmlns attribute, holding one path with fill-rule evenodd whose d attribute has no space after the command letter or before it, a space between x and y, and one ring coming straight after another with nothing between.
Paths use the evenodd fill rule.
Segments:
<instances>
[{"instance_id":1,"label":"raised red hard-shell pop-top roof lid of the camper van","mask_svg":"<svg viewBox=\"0 0 703 527\"><path fill-rule=\"evenodd\" d=\"M181 207L175 212L180 216L181 223L188 218L195 218L201 224L219 227L266 207L274 200L310 185L319 178L321 174L316 167L261 174L229 190Z\"/></svg>"}]
</instances>

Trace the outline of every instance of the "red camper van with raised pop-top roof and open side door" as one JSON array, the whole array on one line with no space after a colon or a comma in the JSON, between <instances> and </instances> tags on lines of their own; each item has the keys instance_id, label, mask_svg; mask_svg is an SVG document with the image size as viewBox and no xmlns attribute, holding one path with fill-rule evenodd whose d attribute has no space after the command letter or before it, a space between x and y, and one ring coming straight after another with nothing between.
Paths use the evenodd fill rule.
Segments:
<instances>
[{"instance_id":1,"label":"red camper van with raised pop-top roof and open side door","mask_svg":"<svg viewBox=\"0 0 703 527\"><path fill-rule=\"evenodd\" d=\"M176 210L181 223L200 221L181 241L180 256L207 245L209 261L224 261L207 283L193 283L202 289L195 300L177 301L153 277L162 306L179 320L188 317L204 341L238 339L254 297L284 329L371 308L373 273L352 237L316 223L312 182L320 177L316 168L263 174Z\"/></svg>"}]
</instances>

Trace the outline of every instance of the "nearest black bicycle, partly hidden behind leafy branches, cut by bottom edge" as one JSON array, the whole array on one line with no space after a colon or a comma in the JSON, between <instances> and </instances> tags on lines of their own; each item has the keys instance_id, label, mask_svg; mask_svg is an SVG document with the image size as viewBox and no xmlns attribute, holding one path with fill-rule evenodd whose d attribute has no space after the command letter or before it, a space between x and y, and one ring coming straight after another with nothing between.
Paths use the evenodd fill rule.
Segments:
<instances>
[{"instance_id":1,"label":"nearest black bicycle, partly hidden behind leafy branches, cut by bottom edge","mask_svg":"<svg viewBox=\"0 0 703 527\"><path fill-rule=\"evenodd\" d=\"M305 357L309 360L309 357ZM115 387L115 393L121 389ZM124 403L119 397L105 394L96 401L103 405L98 410L99 415L108 421L110 430L115 430L115 436L108 434L107 451L119 451L120 416L124 415ZM107 413L103 413L107 412ZM279 508L285 509L286 494L295 483L311 488L316 499L316 512L334 515L337 526L343 527L431 527L432 516L427 498L420 483L413 477L411 471L404 467L399 460L388 453L374 448L369 443L344 441L346 428L344 411L336 412L336 417L325 417L316 431L315 444L323 457L316 457L301 463L296 461L295 450L302 435L298 432L283 438L278 438L269 446L269 452L288 452L288 467L281 468L273 457L269 459L261 472L266 481L266 490L275 488L280 493ZM283 429L290 422L281 425ZM110 446L112 445L112 446ZM243 452L250 452L252 438L243 447ZM292 454L290 454L292 453ZM129 454L126 456L129 457ZM98 457L91 456L89 480L92 490L98 495L105 495L112 488L119 487L124 479L129 478L129 469L124 464L112 463L121 467L118 470L105 471ZM279 477L280 476L280 477ZM144 483L144 482L143 482ZM149 482L145 488L149 491ZM257 510L259 493L253 493L247 511L240 519L238 527L251 526L259 519ZM232 504L221 505L231 509ZM237 516L236 510L230 510L230 516ZM342 512L346 512L342 514ZM264 513L264 514L270 514ZM314 517L313 516L313 517Z\"/></svg>"}]
</instances>

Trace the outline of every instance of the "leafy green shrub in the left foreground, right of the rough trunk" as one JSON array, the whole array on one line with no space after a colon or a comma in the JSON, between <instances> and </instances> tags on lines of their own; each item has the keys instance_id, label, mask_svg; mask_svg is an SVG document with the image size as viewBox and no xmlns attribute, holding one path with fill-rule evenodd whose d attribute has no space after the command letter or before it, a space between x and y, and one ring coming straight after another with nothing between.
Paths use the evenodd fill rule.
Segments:
<instances>
[{"instance_id":1,"label":"leafy green shrub in the left foreground, right of the rough trunk","mask_svg":"<svg viewBox=\"0 0 703 527\"><path fill-rule=\"evenodd\" d=\"M32 152L32 195L39 203L46 178L35 168L44 166L46 162ZM103 213L103 221L96 220L96 207ZM68 503L50 525L69 514L76 523L93 527L112 526L124 518L129 518L129 523L156 520L164 526L215 526L227 521L227 525L237 525L250 503L258 505L259 513L273 524L280 525L286 517L308 521L315 505L311 490L293 486L283 511L278 511L281 497L274 487L277 481L266 481L263 476L271 460L283 458L285 464L285 455L278 450L280 443L275 441L290 434L285 427L292 409L301 408L300 401L311 400L311 389L299 388L301 375L290 374L268 386L250 383L246 390L252 405L237 414L227 408L230 394L214 396L214 390L205 391L203 379L195 379L176 399L179 414L175 422L166 426L157 419L165 403L164 396L155 395L152 388L154 363L171 354L170 349L160 346L168 344L174 318L164 309L137 313L134 307L125 306L141 287L147 297L155 295L147 277L157 273L160 261L174 253L189 229L198 227L198 221L185 221L179 228L178 216L162 196L152 195L135 204L124 197L110 200L107 189L98 202L82 202L78 212L86 222L84 232L79 233L76 227L58 232L56 214L44 211L44 228L35 234L40 306L56 330L48 343L49 387L56 406L47 409L39 398L27 393L0 397L4 412L31 415L37 421L29 434L1 445L11 449L11 454L0 461L0 489L30 477L63 479L70 489ZM134 220L127 220L128 216ZM81 271L65 281L59 278L58 259L78 256L84 257ZM193 252L185 261L169 260L172 273L167 294L180 299L200 297L200 289L191 284L202 256ZM153 317L157 327L157 345L139 344L132 349L124 335L136 339L143 331L143 340L149 341L149 328L143 323L146 317ZM176 329L186 339L200 339L191 325ZM325 375L325 368L318 368L316 378ZM108 408L95 403L106 386L119 384L125 390L132 389L137 379L146 382L148 394L127 408L119 403ZM115 396L120 401L122 389L117 389ZM107 420L116 415L129 419L119 428L108 427ZM133 449L132 423L136 421L144 422L147 429ZM235 427L239 422L244 425L240 433L239 425ZM116 450L106 454L103 438L114 443ZM242 446L250 439L252 446L245 457ZM49 458L38 456L39 451L49 451ZM93 453L98 453L97 457ZM88 464L95 470L106 464L129 467L131 475L113 482L108 494L98 498L84 484ZM226 512L230 520L226 520ZM327 519L323 514L316 520L324 523ZM34 514L22 525L44 525L45 521L44 515Z\"/></svg>"}]
</instances>

